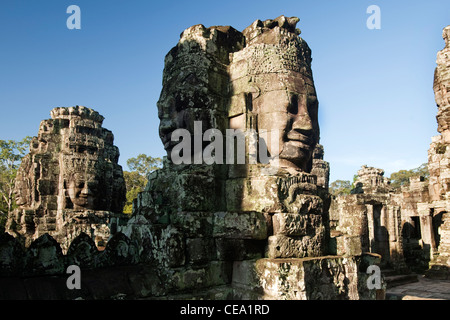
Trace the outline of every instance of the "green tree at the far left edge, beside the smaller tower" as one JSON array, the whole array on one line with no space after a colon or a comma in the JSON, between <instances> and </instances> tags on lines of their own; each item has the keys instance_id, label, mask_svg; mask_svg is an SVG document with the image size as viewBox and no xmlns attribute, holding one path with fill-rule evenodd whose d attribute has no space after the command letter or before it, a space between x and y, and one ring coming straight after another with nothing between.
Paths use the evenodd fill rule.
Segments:
<instances>
[{"instance_id":1,"label":"green tree at the far left edge, beside the smaller tower","mask_svg":"<svg viewBox=\"0 0 450 320\"><path fill-rule=\"evenodd\" d=\"M0 140L0 211L3 212L1 222L6 213L15 208L14 184L17 170L30 142L31 137L25 137L21 141Z\"/></svg>"}]
</instances>

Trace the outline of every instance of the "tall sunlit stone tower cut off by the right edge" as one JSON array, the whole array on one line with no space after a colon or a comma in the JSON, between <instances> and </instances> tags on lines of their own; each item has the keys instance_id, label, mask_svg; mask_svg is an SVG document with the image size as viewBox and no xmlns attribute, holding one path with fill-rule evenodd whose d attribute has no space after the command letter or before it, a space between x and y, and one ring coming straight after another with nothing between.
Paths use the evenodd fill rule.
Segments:
<instances>
[{"instance_id":1,"label":"tall sunlit stone tower cut off by the right edge","mask_svg":"<svg viewBox=\"0 0 450 320\"><path fill-rule=\"evenodd\" d=\"M430 204L418 205L421 224L428 235L431 269L450 275L450 26L444 28L445 47L437 54L434 72L434 95L438 112L436 120L440 135L432 138L428 150L430 172L428 191Z\"/></svg>"}]
</instances>

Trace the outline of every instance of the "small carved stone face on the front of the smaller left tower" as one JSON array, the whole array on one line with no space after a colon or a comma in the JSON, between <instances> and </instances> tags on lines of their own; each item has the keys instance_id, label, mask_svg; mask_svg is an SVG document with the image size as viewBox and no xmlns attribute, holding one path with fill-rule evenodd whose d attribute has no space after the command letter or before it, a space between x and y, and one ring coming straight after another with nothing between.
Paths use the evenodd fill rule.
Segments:
<instances>
[{"instance_id":1,"label":"small carved stone face on the front of the smaller left tower","mask_svg":"<svg viewBox=\"0 0 450 320\"><path fill-rule=\"evenodd\" d=\"M76 173L67 182L67 193L73 203L73 209L95 209L95 197L98 182L94 177Z\"/></svg>"}]
</instances>

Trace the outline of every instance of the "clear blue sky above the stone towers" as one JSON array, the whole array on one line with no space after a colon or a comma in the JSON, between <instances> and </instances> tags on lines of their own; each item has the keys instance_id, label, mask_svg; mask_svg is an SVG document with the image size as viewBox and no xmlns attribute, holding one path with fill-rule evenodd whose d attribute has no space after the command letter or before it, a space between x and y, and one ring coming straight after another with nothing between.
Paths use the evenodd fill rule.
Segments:
<instances>
[{"instance_id":1,"label":"clear blue sky above the stone towers","mask_svg":"<svg viewBox=\"0 0 450 320\"><path fill-rule=\"evenodd\" d=\"M69 5L81 30L69 30ZM369 5L381 29L369 30ZM120 149L163 156L156 101L164 56L195 24L243 30L256 19L297 16L312 49L321 143L330 180L361 165L386 175L427 162L437 134L433 72L450 1L2 0L0 139L37 134L54 107L100 112Z\"/></svg>"}]
</instances>

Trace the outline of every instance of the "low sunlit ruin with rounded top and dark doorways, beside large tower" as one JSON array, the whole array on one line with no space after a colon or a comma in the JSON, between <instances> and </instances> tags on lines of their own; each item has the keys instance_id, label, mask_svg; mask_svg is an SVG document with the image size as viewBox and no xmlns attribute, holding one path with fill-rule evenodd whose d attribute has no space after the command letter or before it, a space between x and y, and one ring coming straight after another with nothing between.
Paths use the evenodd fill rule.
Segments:
<instances>
[{"instance_id":1,"label":"low sunlit ruin with rounded top and dark doorways, beside large tower","mask_svg":"<svg viewBox=\"0 0 450 320\"><path fill-rule=\"evenodd\" d=\"M337 254L373 252L381 266L405 271L400 206L381 169L363 166L352 194L332 201L330 219Z\"/></svg>"}]
</instances>

